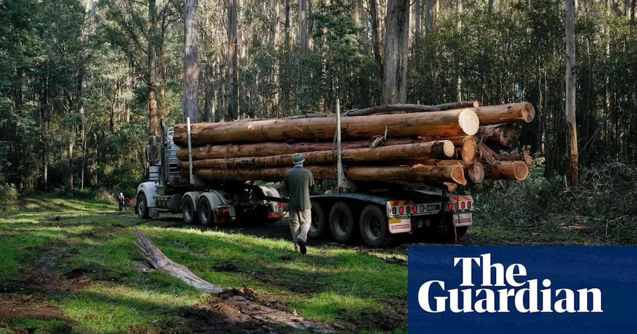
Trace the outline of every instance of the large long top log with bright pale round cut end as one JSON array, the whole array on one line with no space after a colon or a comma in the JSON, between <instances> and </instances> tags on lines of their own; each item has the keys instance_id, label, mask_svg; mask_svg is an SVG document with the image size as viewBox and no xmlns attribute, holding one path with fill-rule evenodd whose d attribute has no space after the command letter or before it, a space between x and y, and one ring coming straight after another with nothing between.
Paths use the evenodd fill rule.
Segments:
<instances>
[{"instance_id":1,"label":"large long top log with bright pale round cut end","mask_svg":"<svg viewBox=\"0 0 637 334\"><path fill-rule=\"evenodd\" d=\"M371 115L341 120L342 137L461 136L478 132L478 116L471 109L431 113ZM259 143L262 141L331 140L336 132L334 118L272 119L255 122L196 123L191 128L195 146L218 143ZM175 144L187 145L187 126L175 125Z\"/></svg>"}]
</instances>

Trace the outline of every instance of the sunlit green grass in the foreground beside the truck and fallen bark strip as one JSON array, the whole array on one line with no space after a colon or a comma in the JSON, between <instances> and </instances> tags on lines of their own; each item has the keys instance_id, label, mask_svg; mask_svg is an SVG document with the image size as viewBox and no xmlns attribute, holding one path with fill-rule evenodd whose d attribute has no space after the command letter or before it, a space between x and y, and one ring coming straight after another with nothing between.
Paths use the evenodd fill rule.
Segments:
<instances>
[{"instance_id":1,"label":"sunlit green grass in the foreground beside the truck and fallen bark strip","mask_svg":"<svg viewBox=\"0 0 637 334\"><path fill-rule=\"evenodd\" d=\"M370 332L387 330L380 323L389 316L394 319L390 331L406 332L406 314L391 311L396 300L406 304L404 265L354 247L309 247L308 254L300 256L287 240L173 228L173 221L141 221L132 213L95 213L116 208L83 199L22 198L18 211L0 213L0 282L28 287L34 272L81 270L87 283L82 288L45 293L45 303L76 321L70 324L72 331L147 333L179 328L180 310L205 303L210 296L166 274L138 272L131 263L143 260L134 246L138 226L169 258L223 288L249 287L301 316L355 323ZM229 265L231 271L215 270ZM33 293L13 290L10 286L5 295ZM361 319L376 321L366 324ZM60 323L14 319L0 323L0 331L8 326L46 333Z\"/></svg>"}]
</instances>

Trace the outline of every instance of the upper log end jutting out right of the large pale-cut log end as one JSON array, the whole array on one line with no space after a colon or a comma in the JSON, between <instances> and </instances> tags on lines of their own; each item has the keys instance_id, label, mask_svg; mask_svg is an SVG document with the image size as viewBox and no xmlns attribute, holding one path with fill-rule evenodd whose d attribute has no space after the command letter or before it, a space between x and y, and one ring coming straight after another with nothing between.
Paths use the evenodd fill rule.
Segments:
<instances>
[{"instance_id":1,"label":"upper log end jutting out right of the large pale-cut log end","mask_svg":"<svg viewBox=\"0 0 637 334\"><path fill-rule=\"evenodd\" d=\"M529 102L499 104L471 108L480 119L480 125L499 123L529 123L535 118L535 108Z\"/></svg>"}]
</instances>

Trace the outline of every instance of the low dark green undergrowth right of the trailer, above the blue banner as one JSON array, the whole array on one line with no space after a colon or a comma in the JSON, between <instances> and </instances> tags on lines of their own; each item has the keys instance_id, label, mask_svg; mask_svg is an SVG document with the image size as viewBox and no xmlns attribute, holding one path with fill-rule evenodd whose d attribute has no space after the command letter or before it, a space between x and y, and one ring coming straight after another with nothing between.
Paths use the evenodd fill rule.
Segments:
<instances>
[{"instance_id":1,"label":"low dark green undergrowth right of the trailer, above the blue banner","mask_svg":"<svg viewBox=\"0 0 637 334\"><path fill-rule=\"evenodd\" d=\"M564 177L544 176L536 166L526 181L489 181L476 189L476 221L505 230L535 233L568 231L571 237L599 244L634 244L637 240L637 169L620 163L580 170L580 186Z\"/></svg>"}]
</instances>

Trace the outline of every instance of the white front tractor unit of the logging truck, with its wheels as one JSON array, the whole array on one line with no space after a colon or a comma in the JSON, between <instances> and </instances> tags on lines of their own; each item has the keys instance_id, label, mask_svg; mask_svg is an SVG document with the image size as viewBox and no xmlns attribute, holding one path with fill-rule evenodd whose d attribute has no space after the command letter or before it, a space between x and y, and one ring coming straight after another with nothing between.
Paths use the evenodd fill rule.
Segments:
<instances>
[{"instance_id":1,"label":"white front tractor unit of the logging truck, with its wheels","mask_svg":"<svg viewBox=\"0 0 637 334\"><path fill-rule=\"evenodd\" d=\"M283 206L269 198L280 197L275 188L241 181L190 181L182 175L173 141L174 129L161 122L161 141L150 139L147 146L148 181L137 187L135 211L140 218L155 218L162 213L182 214L188 224L231 223L258 219L276 221Z\"/></svg>"}]
</instances>

